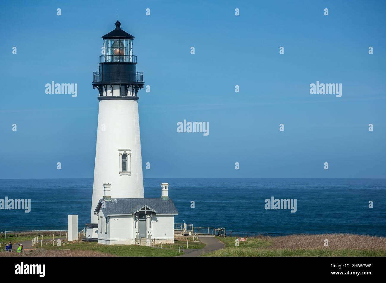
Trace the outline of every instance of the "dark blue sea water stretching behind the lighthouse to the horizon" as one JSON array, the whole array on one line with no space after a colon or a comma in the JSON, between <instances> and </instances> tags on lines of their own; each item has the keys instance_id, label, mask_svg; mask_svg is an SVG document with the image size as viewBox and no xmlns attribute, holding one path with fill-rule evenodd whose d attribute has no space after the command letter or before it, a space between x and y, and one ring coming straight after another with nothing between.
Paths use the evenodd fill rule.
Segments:
<instances>
[{"instance_id":1,"label":"dark blue sea water stretching behind the lighthouse to the horizon","mask_svg":"<svg viewBox=\"0 0 386 283\"><path fill-rule=\"evenodd\" d=\"M169 196L176 223L266 233L386 236L386 179L144 179L145 197ZM0 231L67 229L67 215L90 222L93 179L0 179L0 199L31 199L31 211L0 210ZM113 190L113 187L112 187ZM297 199L297 211L266 210L264 200ZM191 208L195 201L195 208ZM369 208L369 201L374 207Z\"/></svg>"}]
</instances>

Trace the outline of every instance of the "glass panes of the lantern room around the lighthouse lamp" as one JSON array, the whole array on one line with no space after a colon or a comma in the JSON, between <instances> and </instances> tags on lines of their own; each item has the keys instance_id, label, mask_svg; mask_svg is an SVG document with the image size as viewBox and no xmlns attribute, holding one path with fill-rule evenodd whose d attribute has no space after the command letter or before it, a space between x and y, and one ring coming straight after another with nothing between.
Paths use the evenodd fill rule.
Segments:
<instances>
[{"instance_id":1,"label":"glass panes of the lantern room around the lighthouse lamp","mask_svg":"<svg viewBox=\"0 0 386 283\"><path fill-rule=\"evenodd\" d=\"M133 62L132 39L105 39L104 62Z\"/></svg>"}]
</instances>

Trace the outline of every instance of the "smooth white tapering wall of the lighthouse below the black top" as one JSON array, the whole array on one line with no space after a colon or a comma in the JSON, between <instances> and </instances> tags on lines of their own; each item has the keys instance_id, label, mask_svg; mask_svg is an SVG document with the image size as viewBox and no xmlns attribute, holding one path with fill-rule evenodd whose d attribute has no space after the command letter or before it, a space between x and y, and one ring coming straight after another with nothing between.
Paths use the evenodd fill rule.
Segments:
<instances>
[{"instance_id":1,"label":"smooth white tapering wall of the lighthouse below the black top","mask_svg":"<svg viewBox=\"0 0 386 283\"><path fill-rule=\"evenodd\" d=\"M103 124L105 131L102 131ZM130 176L119 174L118 149L131 150ZM111 184L111 198L144 197L136 100L117 99L99 102L91 223L98 223L97 216L93 212L99 199L103 198L103 183Z\"/></svg>"}]
</instances>

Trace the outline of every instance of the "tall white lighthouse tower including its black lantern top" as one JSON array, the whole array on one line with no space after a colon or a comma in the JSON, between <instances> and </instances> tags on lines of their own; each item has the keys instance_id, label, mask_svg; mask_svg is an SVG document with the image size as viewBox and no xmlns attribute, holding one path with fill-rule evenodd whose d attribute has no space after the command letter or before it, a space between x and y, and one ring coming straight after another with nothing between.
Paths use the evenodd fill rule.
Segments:
<instances>
[{"instance_id":1,"label":"tall white lighthouse tower including its black lantern top","mask_svg":"<svg viewBox=\"0 0 386 283\"><path fill-rule=\"evenodd\" d=\"M144 198L137 102L137 92L144 82L143 73L136 71L134 37L117 21L115 29L102 39L104 52L93 80L93 88L99 90L99 113L91 223L86 224L88 240L98 238L94 211L106 184L111 184L111 198Z\"/></svg>"}]
</instances>

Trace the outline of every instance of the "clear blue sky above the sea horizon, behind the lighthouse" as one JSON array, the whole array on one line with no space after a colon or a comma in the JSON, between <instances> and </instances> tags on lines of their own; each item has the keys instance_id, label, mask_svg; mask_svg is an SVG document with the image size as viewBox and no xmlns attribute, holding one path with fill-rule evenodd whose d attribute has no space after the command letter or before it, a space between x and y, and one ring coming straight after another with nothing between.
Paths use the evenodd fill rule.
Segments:
<instances>
[{"instance_id":1,"label":"clear blue sky above the sea horizon, behind the lighthouse","mask_svg":"<svg viewBox=\"0 0 386 283\"><path fill-rule=\"evenodd\" d=\"M151 162L145 178L386 177L385 2L69 0L0 8L0 178L93 178L91 81L117 10L151 86L139 92L142 162ZM46 94L52 80L77 83L78 96ZM342 97L310 94L316 81L341 83ZM178 133L184 119L209 122L210 134Z\"/></svg>"}]
</instances>

